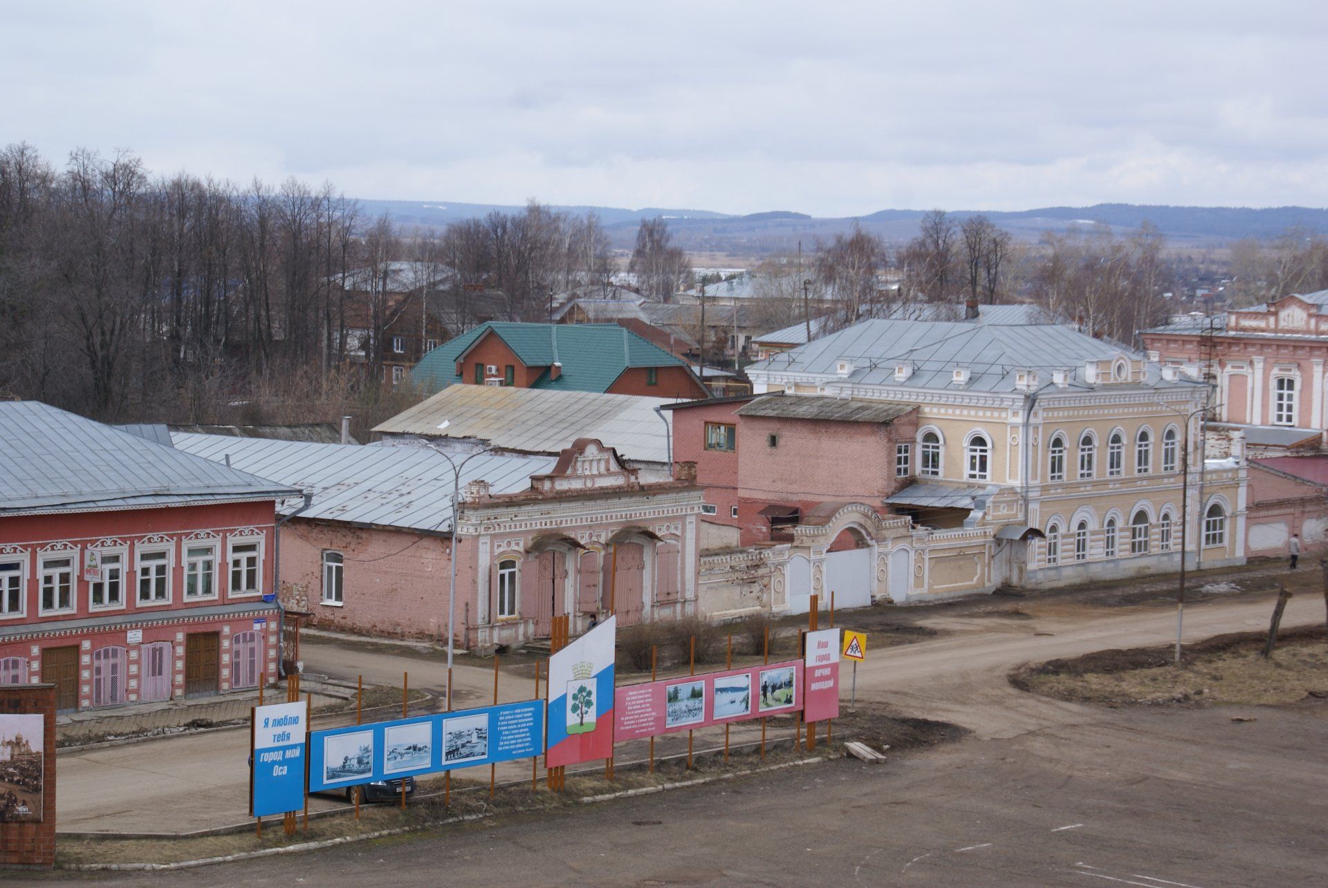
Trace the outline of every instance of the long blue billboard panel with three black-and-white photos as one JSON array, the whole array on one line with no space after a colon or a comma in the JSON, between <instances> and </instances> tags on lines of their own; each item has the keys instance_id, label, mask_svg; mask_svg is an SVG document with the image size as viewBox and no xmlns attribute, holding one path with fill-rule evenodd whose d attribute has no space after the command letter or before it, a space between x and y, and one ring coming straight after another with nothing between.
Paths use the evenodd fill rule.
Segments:
<instances>
[{"instance_id":1,"label":"long blue billboard panel with three black-and-white photos","mask_svg":"<svg viewBox=\"0 0 1328 888\"><path fill-rule=\"evenodd\" d=\"M544 701L309 734L309 792L498 765L544 751Z\"/></svg>"}]
</instances>

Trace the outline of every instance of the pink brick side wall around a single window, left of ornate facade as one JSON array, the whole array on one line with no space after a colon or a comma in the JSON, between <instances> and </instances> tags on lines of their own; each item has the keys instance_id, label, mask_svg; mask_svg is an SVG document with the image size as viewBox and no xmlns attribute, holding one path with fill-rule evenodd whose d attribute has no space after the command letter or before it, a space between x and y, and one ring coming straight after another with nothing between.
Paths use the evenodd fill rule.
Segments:
<instances>
[{"instance_id":1,"label":"pink brick side wall around a single window, left of ornate facade","mask_svg":"<svg viewBox=\"0 0 1328 888\"><path fill-rule=\"evenodd\" d=\"M312 625L321 629L441 638L448 625L449 544L445 538L409 531L296 518L282 530L282 601L311 612ZM343 556L340 607L323 601L327 550ZM463 625L462 580L458 573L458 634Z\"/></svg>"}]
</instances>

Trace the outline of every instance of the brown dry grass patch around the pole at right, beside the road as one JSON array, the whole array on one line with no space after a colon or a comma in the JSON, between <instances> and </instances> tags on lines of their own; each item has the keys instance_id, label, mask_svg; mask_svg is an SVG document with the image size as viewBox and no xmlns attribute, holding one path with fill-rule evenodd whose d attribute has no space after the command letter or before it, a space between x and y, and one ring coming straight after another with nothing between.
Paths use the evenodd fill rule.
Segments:
<instances>
[{"instance_id":1,"label":"brown dry grass patch around the pole at right, beside the road","mask_svg":"<svg viewBox=\"0 0 1328 888\"><path fill-rule=\"evenodd\" d=\"M1035 693L1108 705L1278 706L1328 694L1323 630L1288 633L1270 660L1259 633L1223 636L1185 653L1165 648L1104 650L1020 670L1012 681Z\"/></svg>"}]
</instances>

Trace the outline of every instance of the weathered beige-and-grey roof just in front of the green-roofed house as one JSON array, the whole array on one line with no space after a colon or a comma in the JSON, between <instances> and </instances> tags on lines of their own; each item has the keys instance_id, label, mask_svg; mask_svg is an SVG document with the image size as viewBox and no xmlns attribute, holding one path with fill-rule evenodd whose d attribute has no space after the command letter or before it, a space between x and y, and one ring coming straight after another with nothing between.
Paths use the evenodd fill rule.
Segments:
<instances>
[{"instance_id":1,"label":"weathered beige-and-grey roof just in front of the green-roofed house","mask_svg":"<svg viewBox=\"0 0 1328 888\"><path fill-rule=\"evenodd\" d=\"M599 438L624 459L668 462L664 398L452 385L378 425L380 434L477 438L502 450L558 454L578 438ZM671 414L665 413L665 418ZM448 427L438 429L446 419Z\"/></svg>"}]
</instances>

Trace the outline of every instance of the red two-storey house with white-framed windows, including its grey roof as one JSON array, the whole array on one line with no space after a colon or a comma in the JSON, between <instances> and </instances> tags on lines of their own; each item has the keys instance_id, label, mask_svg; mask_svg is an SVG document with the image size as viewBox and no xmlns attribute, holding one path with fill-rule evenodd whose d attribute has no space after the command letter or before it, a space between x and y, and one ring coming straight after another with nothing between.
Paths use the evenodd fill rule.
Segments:
<instances>
[{"instance_id":1,"label":"red two-storey house with white-framed windows, including its grey roof","mask_svg":"<svg viewBox=\"0 0 1328 888\"><path fill-rule=\"evenodd\" d=\"M275 503L297 492L0 402L0 682L76 710L275 681Z\"/></svg>"}]
</instances>

